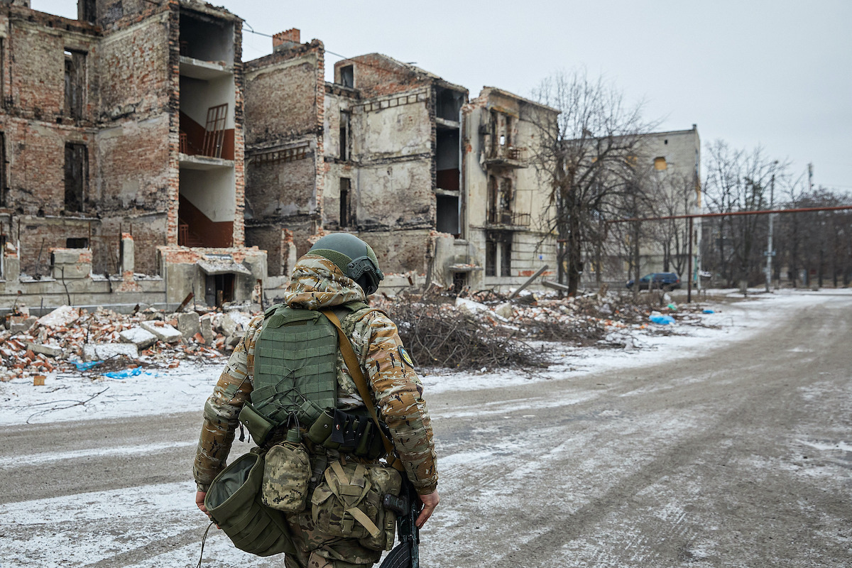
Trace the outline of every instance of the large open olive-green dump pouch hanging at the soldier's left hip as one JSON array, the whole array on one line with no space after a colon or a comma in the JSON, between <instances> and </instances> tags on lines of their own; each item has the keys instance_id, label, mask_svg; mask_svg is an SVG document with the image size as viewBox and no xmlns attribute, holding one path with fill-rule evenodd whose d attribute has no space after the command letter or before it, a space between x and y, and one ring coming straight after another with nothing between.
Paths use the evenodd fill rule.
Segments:
<instances>
[{"instance_id":1,"label":"large open olive-green dump pouch hanging at the soldier's left hip","mask_svg":"<svg viewBox=\"0 0 852 568\"><path fill-rule=\"evenodd\" d=\"M261 498L264 455L252 450L239 456L213 479L204 507L240 550L258 556L296 554L284 513Z\"/></svg>"}]
</instances>

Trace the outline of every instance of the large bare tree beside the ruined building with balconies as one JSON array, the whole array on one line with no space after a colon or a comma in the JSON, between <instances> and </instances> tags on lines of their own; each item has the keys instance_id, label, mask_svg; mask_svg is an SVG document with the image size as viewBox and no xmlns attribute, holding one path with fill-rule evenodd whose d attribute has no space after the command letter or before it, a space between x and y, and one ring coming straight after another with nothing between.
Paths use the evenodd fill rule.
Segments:
<instances>
[{"instance_id":1,"label":"large bare tree beside the ruined building with balconies","mask_svg":"<svg viewBox=\"0 0 852 568\"><path fill-rule=\"evenodd\" d=\"M642 104L625 102L622 92L585 72L557 73L533 91L539 103L560 112L556 124L537 121L533 147L538 175L550 188L543 216L559 239L559 281L567 273L568 293L576 293L584 253L601 254L606 221L618 216L635 184L637 157L645 135L656 126L642 119Z\"/></svg>"}]
</instances>

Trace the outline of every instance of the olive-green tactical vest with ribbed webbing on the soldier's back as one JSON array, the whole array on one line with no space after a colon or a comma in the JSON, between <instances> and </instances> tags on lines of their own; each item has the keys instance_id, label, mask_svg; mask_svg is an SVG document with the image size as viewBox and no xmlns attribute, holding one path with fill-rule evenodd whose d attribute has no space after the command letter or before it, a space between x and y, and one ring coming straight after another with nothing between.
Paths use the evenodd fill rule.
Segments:
<instances>
[{"instance_id":1,"label":"olive-green tactical vest with ribbed webbing on the soldier's back","mask_svg":"<svg viewBox=\"0 0 852 568\"><path fill-rule=\"evenodd\" d=\"M334 311L350 323L350 316L365 308L363 302L351 302ZM256 443L294 418L302 428L309 427L325 409L337 408L337 351L337 329L322 313L285 304L264 313L255 344L251 403L240 414ZM252 411L259 416L244 420ZM250 422L260 422L265 433Z\"/></svg>"}]
</instances>

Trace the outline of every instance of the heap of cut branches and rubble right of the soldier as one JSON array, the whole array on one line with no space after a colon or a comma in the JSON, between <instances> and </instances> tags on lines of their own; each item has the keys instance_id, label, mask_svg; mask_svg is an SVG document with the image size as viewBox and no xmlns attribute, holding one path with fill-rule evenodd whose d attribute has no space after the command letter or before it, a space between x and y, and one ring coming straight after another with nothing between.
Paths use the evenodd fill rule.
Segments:
<instances>
[{"instance_id":1,"label":"heap of cut branches and rubble right of the soldier","mask_svg":"<svg viewBox=\"0 0 852 568\"><path fill-rule=\"evenodd\" d=\"M394 318L418 364L458 369L533 369L549 363L554 342L632 348L637 330L669 335L668 324L701 324L693 316L701 311L696 305L678 310L671 301L663 307L633 304L630 296L615 293L566 298L527 293L509 300L486 290L464 298L401 295L377 307Z\"/></svg>"}]
</instances>

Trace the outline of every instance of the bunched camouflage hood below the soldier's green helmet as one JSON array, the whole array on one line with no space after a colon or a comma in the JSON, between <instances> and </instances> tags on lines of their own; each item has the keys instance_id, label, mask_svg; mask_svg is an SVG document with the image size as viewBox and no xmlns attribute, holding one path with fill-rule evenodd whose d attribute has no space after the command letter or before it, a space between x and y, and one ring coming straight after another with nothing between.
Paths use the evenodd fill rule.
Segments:
<instances>
[{"instance_id":1,"label":"bunched camouflage hood below the soldier's green helmet","mask_svg":"<svg viewBox=\"0 0 852 568\"><path fill-rule=\"evenodd\" d=\"M320 255L304 255L293 268L284 301L290 307L321 310L367 299L364 290L334 262Z\"/></svg>"}]
</instances>

